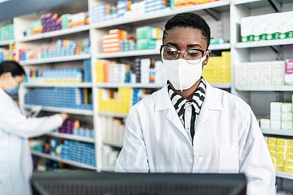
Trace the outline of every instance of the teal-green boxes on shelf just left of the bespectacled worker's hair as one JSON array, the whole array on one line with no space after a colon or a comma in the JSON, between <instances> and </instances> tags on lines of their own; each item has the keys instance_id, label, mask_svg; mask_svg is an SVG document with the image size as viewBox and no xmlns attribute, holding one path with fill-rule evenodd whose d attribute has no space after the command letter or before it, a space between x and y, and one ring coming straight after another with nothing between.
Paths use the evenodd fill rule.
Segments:
<instances>
[{"instance_id":1,"label":"teal-green boxes on shelf just left of the bespectacled worker's hair","mask_svg":"<svg viewBox=\"0 0 293 195\"><path fill-rule=\"evenodd\" d=\"M162 29L148 26L138 27L136 29L136 49L159 49L159 46L162 45L162 36Z\"/></svg>"}]
</instances>

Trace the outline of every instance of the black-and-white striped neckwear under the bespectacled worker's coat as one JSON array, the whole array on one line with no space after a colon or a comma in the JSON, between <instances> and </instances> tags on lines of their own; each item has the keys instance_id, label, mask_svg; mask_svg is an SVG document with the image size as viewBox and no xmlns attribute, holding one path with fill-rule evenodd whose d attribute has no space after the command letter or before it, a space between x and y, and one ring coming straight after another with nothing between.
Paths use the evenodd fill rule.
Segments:
<instances>
[{"instance_id":1,"label":"black-and-white striped neckwear under the bespectacled worker's coat","mask_svg":"<svg viewBox=\"0 0 293 195\"><path fill-rule=\"evenodd\" d=\"M169 83L167 83L169 96L173 103L173 106L180 117L180 120L183 121L183 126L185 126L185 105L187 102L192 103L192 117L190 122L190 134L192 136L192 140L194 138L194 129L195 129L195 121L196 115L199 115L201 111L201 106L203 105L204 99L206 99L206 80L201 78L201 82L199 83L199 87L194 92L194 95L191 100L187 100L182 96L176 94L173 91Z\"/></svg>"}]
</instances>

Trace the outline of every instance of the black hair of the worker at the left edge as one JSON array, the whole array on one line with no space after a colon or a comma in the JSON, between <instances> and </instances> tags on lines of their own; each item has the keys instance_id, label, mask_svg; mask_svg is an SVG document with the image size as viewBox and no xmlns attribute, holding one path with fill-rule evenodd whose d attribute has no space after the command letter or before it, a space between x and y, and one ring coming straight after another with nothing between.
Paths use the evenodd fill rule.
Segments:
<instances>
[{"instance_id":1,"label":"black hair of the worker at the left edge","mask_svg":"<svg viewBox=\"0 0 293 195\"><path fill-rule=\"evenodd\" d=\"M24 68L14 61L4 61L0 64L0 75L11 73L13 77L25 75Z\"/></svg>"}]
</instances>

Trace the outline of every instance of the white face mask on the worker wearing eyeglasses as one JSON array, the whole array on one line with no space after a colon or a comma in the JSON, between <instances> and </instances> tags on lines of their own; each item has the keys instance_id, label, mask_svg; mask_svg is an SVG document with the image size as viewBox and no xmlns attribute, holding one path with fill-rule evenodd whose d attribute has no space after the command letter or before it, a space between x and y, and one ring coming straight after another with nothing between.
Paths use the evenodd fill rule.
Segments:
<instances>
[{"instance_id":1,"label":"white face mask on the worker wearing eyeglasses","mask_svg":"<svg viewBox=\"0 0 293 195\"><path fill-rule=\"evenodd\" d=\"M201 78L203 72L202 63L205 59L206 56L201 58L198 64L190 64L182 58L175 60L162 59L162 72L173 87L182 92L192 87Z\"/></svg>"}]
</instances>

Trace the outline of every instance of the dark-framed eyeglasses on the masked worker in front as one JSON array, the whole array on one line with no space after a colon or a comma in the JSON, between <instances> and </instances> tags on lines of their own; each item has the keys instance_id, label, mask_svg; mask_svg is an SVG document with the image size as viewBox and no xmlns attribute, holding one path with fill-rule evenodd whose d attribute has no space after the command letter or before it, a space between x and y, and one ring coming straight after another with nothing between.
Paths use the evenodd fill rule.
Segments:
<instances>
[{"instance_id":1,"label":"dark-framed eyeglasses on the masked worker in front","mask_svg":"<svg viewBox=\"0 0 293 195\"><path fill-rule=\"evenodd\" d=\"M204 52L203 50L191 49L181 52L171 45L161 45L160 52L162 59L175 60L178 58L180 53L183 53L183 58L186 59L188 63L198 64L201 62L201 58L206 54L206 52L208 52L208 50Z\"/></svg>"}]
</instances>

